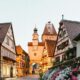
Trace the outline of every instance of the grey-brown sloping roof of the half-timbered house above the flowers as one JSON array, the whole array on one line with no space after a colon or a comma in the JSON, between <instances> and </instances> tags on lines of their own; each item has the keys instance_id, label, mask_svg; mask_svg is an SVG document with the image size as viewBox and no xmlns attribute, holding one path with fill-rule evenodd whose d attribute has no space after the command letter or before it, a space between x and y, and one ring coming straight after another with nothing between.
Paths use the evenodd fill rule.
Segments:
<instances>
[{"instance_id":1,"label":"grey-brown sloping roof of the half-timbered house above the flowers","mask_svg":"<svg viewBox=\"0 0 80 80\"><path fill-rule=\"evenodd\" d=\"M80 22L62 20L60 24L65 25L70 40L73 40L80 33Z\"/></svg>"}]
</instances>

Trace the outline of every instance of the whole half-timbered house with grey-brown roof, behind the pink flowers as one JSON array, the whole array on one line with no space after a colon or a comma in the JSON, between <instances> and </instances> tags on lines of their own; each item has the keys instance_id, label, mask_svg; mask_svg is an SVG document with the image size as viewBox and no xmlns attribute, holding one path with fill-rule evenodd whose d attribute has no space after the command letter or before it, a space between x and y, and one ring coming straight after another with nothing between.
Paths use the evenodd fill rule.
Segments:
<instances>
[{"instance_id":1,"label":"whole half-timbered house with grey-brown roof, behind the pink flowers","mask_svg":"<svg viewBox=\"0 0 80 80\"><path fill-rule=\"evenodd\" d=\"M55 50L56 62L64 62L77 57L76 41L74 38L80 34L80 22L61 20Z\"/></svg>"}]
</instances>

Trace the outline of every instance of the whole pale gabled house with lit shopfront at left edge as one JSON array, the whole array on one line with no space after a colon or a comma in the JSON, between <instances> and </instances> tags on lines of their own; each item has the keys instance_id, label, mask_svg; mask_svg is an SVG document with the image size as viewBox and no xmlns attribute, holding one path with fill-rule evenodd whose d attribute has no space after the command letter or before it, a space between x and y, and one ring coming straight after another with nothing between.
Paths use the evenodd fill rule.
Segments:
<instances>
[{"instance_id":1,"label":"whole pale gabled house with lit shopfront at left edge","mask_svg":"<svg viewBox=\"0 0 80 80\"><path fill-rule=\"evenodd\" d=\"M16 49L11 23L0 23L0 80L16 77Z\"/></svg>"}]
</instances>

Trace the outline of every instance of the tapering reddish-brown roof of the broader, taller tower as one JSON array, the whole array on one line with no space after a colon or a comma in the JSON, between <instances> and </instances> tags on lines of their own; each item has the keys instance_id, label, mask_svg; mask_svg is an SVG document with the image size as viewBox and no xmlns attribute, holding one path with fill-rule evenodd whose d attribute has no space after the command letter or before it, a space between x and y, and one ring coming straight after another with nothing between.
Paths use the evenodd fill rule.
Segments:
<instances>
[{"instance_id":1,"label":"tapering reddish-brown roof of the broader, taller tower","mask_svg":"<svg viewBox=\"0 0 80 80\"><path fill-rule=\"evenodd\" d=\"M57 34L56 30L54 28L54 25L50 21L48 21L48 23L45 25L45 28L44 28L44 31L43 31L43 35L44 34L45 35L49 35L49 34L55 35L55 34Z\"/></svg>"}]
</instances>

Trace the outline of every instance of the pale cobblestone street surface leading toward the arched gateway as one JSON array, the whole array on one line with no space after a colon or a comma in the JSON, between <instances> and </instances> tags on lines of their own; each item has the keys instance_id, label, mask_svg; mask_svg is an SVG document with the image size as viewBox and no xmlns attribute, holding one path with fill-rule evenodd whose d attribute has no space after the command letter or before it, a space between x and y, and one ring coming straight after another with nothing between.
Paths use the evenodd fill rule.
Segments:
<instances>
[{"instance_id":1,"label":"pale cobblestone street surface leading toward the arched gateway","mask_svg":"<svg viewBox=\"0 0 80 80\"><path fill-rule=\"evenodd\" d=\"M5 80L39 80L39 75L28 75L26 77L21 78L8 78Z\"/></svg>"}]
</instances>

